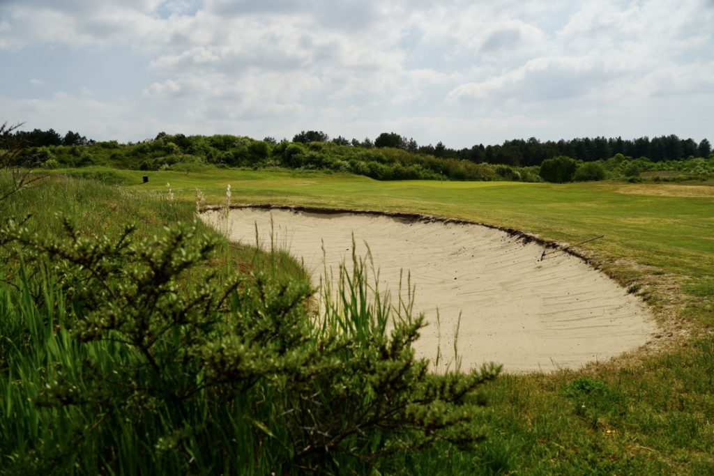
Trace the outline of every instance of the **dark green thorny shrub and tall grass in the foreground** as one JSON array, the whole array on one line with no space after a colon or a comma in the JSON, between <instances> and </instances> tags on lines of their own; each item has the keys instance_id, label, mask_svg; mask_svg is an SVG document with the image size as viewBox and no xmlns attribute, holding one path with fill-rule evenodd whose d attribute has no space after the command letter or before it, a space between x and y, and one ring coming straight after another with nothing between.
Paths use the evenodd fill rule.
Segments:
<instances>
[{"instance_id":1,"label":"dark green thorny shrub and tall grass in the foreground","mask_svg":"<svg viewBox=\"0 0 714 476\"><path fill-rule=\"evenodd\" d=\"M363 472L481 439L498 368L429 373L411 350L422 318L370 300L363 260L311 316L306 281L218 278L196 224L139 240L64 223L0 231L19 257L0 288L0 473Z\"/></svg>"}]
</instances>

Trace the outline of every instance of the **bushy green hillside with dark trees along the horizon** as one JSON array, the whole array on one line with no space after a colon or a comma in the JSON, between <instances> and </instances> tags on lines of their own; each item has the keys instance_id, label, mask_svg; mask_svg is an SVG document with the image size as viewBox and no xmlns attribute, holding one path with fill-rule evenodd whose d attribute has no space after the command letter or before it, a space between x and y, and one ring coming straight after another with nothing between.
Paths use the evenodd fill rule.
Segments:
<instances>
[{"instance_id":1,"label":"bushy green hillside with dark trees along the horizon","mask_svg":"<svg viewBox=\"0 0 714 476\"><path fill-rule=\"evenodd\" d=\"M531 138L459 151L442 143L418 146L413 139L396 133L382 133L375 141L348 141L342 137L330 140L321 131L302 131L292 141L280 142L271 137L256 140L246 136L159 133L146 141L119 143L88 140L72 131L63 137L54 130L36 129L16 131L13 139L26 146L16 165L41 168L291 168L355 173L377 180L638 181L643 173L667 181L714 178L714 154L709 142L703 139L697 144L677 136L651 141L585 138L557 143Z\"/></svg>"}]
</instances>

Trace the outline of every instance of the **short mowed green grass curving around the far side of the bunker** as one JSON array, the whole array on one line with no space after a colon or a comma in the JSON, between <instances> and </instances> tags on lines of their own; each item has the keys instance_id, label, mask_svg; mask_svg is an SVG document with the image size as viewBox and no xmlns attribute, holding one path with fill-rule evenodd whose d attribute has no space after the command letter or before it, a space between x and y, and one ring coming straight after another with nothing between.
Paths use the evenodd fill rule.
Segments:
<instances>
[{"instance_id":1,"label":"short mowed green grass curving around the far side of the bunker","mask_svg":"<svg viewBox=\"0 0 714 476\"><path fill-rule=\"evenodd\" d=\"M568 243L605 235L580 249L655 307L663 331L653 341L667 345L583 370L503 376L488 391L483 445L402 455L403 467L394 472L714 474L714 197L660 193L654 183L628 189L378 182L296 171L121 173L136 184L131 190L163 194L171 183L186 201L200 188L209 203L221 203L230 184L232 203L428 213ZM679 328L689 332L677 339Z\"/></svg>"}]
</instances>

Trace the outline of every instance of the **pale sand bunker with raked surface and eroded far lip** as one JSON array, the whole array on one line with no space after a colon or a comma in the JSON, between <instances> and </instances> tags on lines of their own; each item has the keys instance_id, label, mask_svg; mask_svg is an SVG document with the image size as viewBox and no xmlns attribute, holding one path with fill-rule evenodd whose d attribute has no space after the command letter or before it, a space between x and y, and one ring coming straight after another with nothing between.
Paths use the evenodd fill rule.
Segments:
<instances>
[{"instance_id":1,"label":"pale sand bunker with raked surface and eroded far lip","mask_svg":"<svg viewBox=\"0 0 714 476\"><path fill-rule=\"evenodd\" d=\"M216 224L219 214L203 218ZM543 245L486 226L378 214L315 213L273 208L235 208L232 240L276 242L320 282L328 268L351 260L368 243L380 270L380 289L397 293L400 271L416 285L414 310L428 325L416 343L419 356L453 355L454 330L462 370L483 362L509 373L579 368L645 343L655 332L648 310L613 280L568 253L540 261ZM325 254L323 255L323 244ZM436 312L441 320L436 326ZM440 336L441 334L441 336Z\"/></svg>"}]
</instances>

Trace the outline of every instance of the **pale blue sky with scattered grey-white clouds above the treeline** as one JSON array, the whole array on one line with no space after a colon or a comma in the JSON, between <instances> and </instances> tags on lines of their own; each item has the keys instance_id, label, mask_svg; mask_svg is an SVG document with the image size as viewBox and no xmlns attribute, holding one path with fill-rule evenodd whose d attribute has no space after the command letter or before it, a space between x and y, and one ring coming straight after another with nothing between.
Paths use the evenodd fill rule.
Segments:
<instances>
[{"instance_id":1,"label":"pale blue sky with scattered grey-white clouds above the treeline","mask_svg":"<svg viewBox=\"0 0 714 476\"><path fill-rule=\"evenodd\" d=\"M0 0L0 123L714 139L714 0Z\"/></svg>"}]
</instances>

